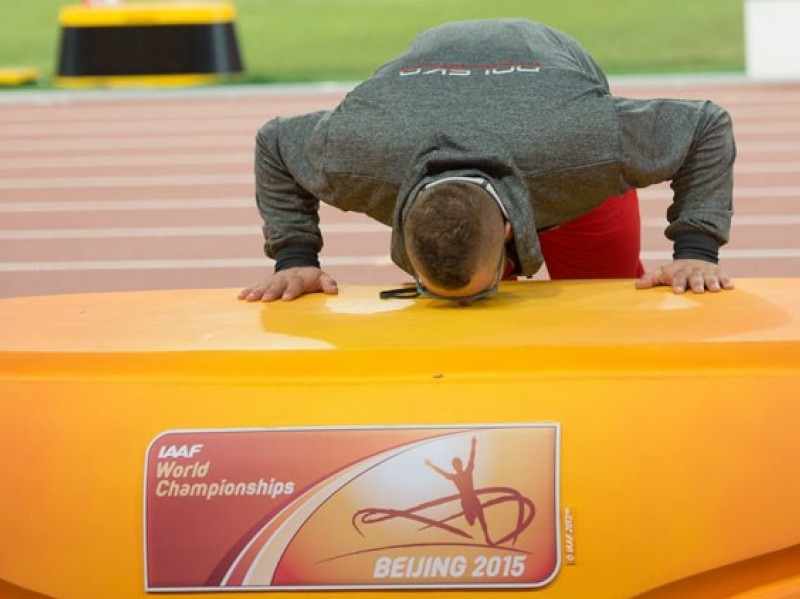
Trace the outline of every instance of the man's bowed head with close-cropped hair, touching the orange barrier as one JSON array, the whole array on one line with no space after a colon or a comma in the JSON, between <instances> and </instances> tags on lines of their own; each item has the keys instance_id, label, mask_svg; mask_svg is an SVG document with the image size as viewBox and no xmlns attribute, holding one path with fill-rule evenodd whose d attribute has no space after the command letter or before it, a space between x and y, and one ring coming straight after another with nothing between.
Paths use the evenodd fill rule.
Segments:
<instances>
[{"instance_id":1,"label":"man's bowed head with close-cropped hair, touching the orange barrier","mask_svg":"<svg viewBox=\"0 0 800 599\"><path fill-rule=\"evenodd\" d=\"M435 295L473 296L491 289L502 274L510 226L495 197L476 181L428 185L403 222L411 264Z\"/></svg>"}]
</instances>

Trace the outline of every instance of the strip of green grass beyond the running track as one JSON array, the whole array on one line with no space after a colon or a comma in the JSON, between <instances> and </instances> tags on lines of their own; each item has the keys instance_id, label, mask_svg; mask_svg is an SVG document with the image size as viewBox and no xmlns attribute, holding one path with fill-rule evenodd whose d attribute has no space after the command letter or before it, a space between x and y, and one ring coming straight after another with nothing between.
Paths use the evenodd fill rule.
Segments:
<instances>
[{"instance_id":1,"label":"strip of green grass beyond the running track","mask_svg":"<svg viewBox=\"0 0 800 599\"><path fill-rule=\"evenodd\" d=\"M59 0L0 2L0 66L40 69L58 52ZM581 41L610 74L740 72L742 3L735 0L237 0L251 82L358 81L426 27L527 17Z\"/></svg>"}]
</instances>

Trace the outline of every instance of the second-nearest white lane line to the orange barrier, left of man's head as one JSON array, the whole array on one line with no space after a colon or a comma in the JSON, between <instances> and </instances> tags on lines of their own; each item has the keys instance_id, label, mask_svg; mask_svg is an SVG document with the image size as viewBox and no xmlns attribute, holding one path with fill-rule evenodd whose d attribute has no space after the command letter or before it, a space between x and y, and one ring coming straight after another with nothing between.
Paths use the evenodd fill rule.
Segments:
<instances>
[{"instance_id":1,"label":"second-nearest white lane line to the orange barrier, left of man's head","mask_svg":"<svg viewBox=\"0 0 800 599\"><path fill-rule=\"evenodd\" d=\"M322 225L323 235L388 233L389 227L378 222L331 223ZM219 227L120 227L111 229L28 229L0 230L0 240L17 239L133 239L159 237L236 237L261 236L261 228L253 225Z\"/></svg>"}]
</instances>

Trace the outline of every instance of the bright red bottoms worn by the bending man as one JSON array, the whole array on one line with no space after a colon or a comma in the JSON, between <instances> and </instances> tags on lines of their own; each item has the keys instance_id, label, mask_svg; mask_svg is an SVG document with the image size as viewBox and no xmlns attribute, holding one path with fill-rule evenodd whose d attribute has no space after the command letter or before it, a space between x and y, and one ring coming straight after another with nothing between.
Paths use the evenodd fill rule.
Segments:
<instances>
[{"instance_id":1,"label":"bright red bottoms worn by the bending man","mask_svg":"<svg viewBox=\"0 0 800 599\"><path fill-rule=\"evenodd\" d=\"M635 189L539 234L551 279L628 279L644 274L641 219Z\"/></svg>"}]
</instances>

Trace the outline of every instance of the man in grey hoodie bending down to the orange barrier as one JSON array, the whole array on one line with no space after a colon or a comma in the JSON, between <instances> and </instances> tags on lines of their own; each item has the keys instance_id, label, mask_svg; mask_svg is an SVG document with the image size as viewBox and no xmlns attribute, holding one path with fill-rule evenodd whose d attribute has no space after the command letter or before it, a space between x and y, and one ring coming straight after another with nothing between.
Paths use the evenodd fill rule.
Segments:
<instances>
[{"instance_id":1,"label":"man in grey hoodie bending down to the orange barrier","mask_svg":"<svg viewBox=\"0 0 800 599\"><path fill-rule=\"evenodd\" d=\"M567 35L522 19L429 29L332 111L258 133L256 195L275 273L249 301L336 293L319 202L390 225L419 293L473 301L503 278L637 278L733 287L730 118L710 102L610 95ZM673 261L644 273L636 188L670 180Z\"/></svg>"}]
</instances>

